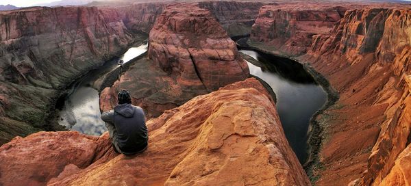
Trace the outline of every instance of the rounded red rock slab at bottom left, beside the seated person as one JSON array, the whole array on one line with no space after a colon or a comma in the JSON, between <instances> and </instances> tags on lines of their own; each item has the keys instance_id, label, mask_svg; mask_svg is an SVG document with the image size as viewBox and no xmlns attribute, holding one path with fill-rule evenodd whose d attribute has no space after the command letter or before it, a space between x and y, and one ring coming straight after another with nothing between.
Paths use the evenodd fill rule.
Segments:
<instances>
[{"instance_id":1,"label":"rounded red rock slab at bottom left, beside the seated person","mask_svg":"<svg viewBox=\"0 0 411 186\"><path fill-rule=\"evenodd\" d=\"M102 138L103 139L103 138ZM105 137L103 140L107 141ZM95 159L99 137L78 132L40 132L15 137L0 147L1 185L45 185L66 165L86 168Z\"/></svg>"}]
</instances>

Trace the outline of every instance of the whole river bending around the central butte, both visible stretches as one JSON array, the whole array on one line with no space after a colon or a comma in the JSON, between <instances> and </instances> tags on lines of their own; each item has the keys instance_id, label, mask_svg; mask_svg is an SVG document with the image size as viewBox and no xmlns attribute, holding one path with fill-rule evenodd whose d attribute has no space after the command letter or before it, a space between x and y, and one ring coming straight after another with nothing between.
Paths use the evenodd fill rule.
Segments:
<instances>
[{"instance_id":1,"label":"whole river bending around the central butte, both visible stretches","mask_svg":"<svg viewBox=\"0 0 411 186\"><path fill-rule=\"evenodd\" d=\"M310 118L327 100L325 91L298 62L249 48L238 49L240 53L256 60L254 63L247 62L251 75L266 81L275 92L276 107L284 133L299 161L304 163L307 158ZM129 62L145 51L147 44L132 47L121 59ZM105 124L100 119L99 91L95 82L116 68L119 68L117 59L113 59L75 81L63 97L59 124L88 135L101 135L106 131Z\"/></svg>"}]
</instances>

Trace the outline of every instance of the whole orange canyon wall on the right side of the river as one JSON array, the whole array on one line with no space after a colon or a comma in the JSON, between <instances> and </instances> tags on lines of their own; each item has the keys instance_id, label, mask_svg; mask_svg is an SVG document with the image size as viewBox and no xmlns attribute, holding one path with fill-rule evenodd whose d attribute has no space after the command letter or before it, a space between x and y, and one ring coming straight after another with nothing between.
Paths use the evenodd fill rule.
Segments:
<instances>
[{"instance_id":1,"label":"whole orange canyon wall on the right side of the river","mask_svg":"<svg viewBox=\"0 0 411 186\"><path fill-rule=\"evenodd\" d=\"M311 41L299 38L305 42L297 47L290 47L288 38L298 38L293 33L305 32L301 29L305 25L290 19L292 11L279 16L282 10L270 10L275 6L260 10L249 44L308 62L308 68L325 75L340 94L339 101L316 118L322 133L318 156L308 163L313 165L307 168L312 181L316 185L409 184L410 168L404 162L410 144L410 7L371 4L345 14L334 10L344 15L333 21L334 28L312 29ZM311 14L301 15L310 18ZM284 44L276 43L279 35L286 36Z\"/></svg>"}]
</instances>

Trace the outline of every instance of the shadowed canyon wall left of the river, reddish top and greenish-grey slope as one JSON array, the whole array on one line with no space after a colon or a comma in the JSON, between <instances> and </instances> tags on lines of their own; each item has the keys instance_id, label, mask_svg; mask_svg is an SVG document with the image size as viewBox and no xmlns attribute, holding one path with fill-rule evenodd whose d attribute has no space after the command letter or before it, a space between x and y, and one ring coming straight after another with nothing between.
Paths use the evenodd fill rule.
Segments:
<instances>
[{"instance_id":1,"label":"shadowed canyon wall left of the river, reddish top and greenish-grey slope","mask_svg":"<svg viewBox=\"0 0 411 186\"><path fill-rule=\"evenodd\" d=\"M138 37L110 8L26 8L0 13L0 144L47 123L74 78L121 53Z\"/></svg>"}]
</instances>

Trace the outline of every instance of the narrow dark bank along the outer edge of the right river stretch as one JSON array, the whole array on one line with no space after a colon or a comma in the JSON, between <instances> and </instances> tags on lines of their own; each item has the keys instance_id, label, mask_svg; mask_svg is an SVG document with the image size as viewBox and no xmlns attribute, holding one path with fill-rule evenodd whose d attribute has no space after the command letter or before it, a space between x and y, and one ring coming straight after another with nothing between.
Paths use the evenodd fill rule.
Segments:
<instances>
[{"instance_id":1,"label":"narrow dark bank along the outer edge of the right river stretch","mask_svg":"<svg viewBox=\"0 0 411 186\"><path fill-rule=\"evenodd\" d=\"M316 170L322 169L322 165L319 161L319 151L323 146L323 141L325 136L323 136L323 131L325 130L325 126L323 122L319 120L322 116L324 116L324 111L332 107L336 101L338 101L339 94L338 92L332 87L329 81L321 75L320 72L317 72L310 64L301 62L300 59L297 57L292 57L291 55L287 55L286 53L281 53L275 50L273 47L266 47L266 45L258 42L251 42L248 40L247 42L242 41L241 44L247 44L247 47L251 49L255 49L261 51L263 53L268 53L271 55L277 55L279 57L285 57L288 59L292 59L295 62L299 62L303 65L303 67L307 70L310 75L315 79L319 85L323 88L323 90L327 93L327 102L325 105L316 111L310 120L309 131L308 131L308 159L306 163L303 163L303 168L306 170L310 181L314 183L319 176L316 176L314 172Z\"/></svg>"}]
</instances>

